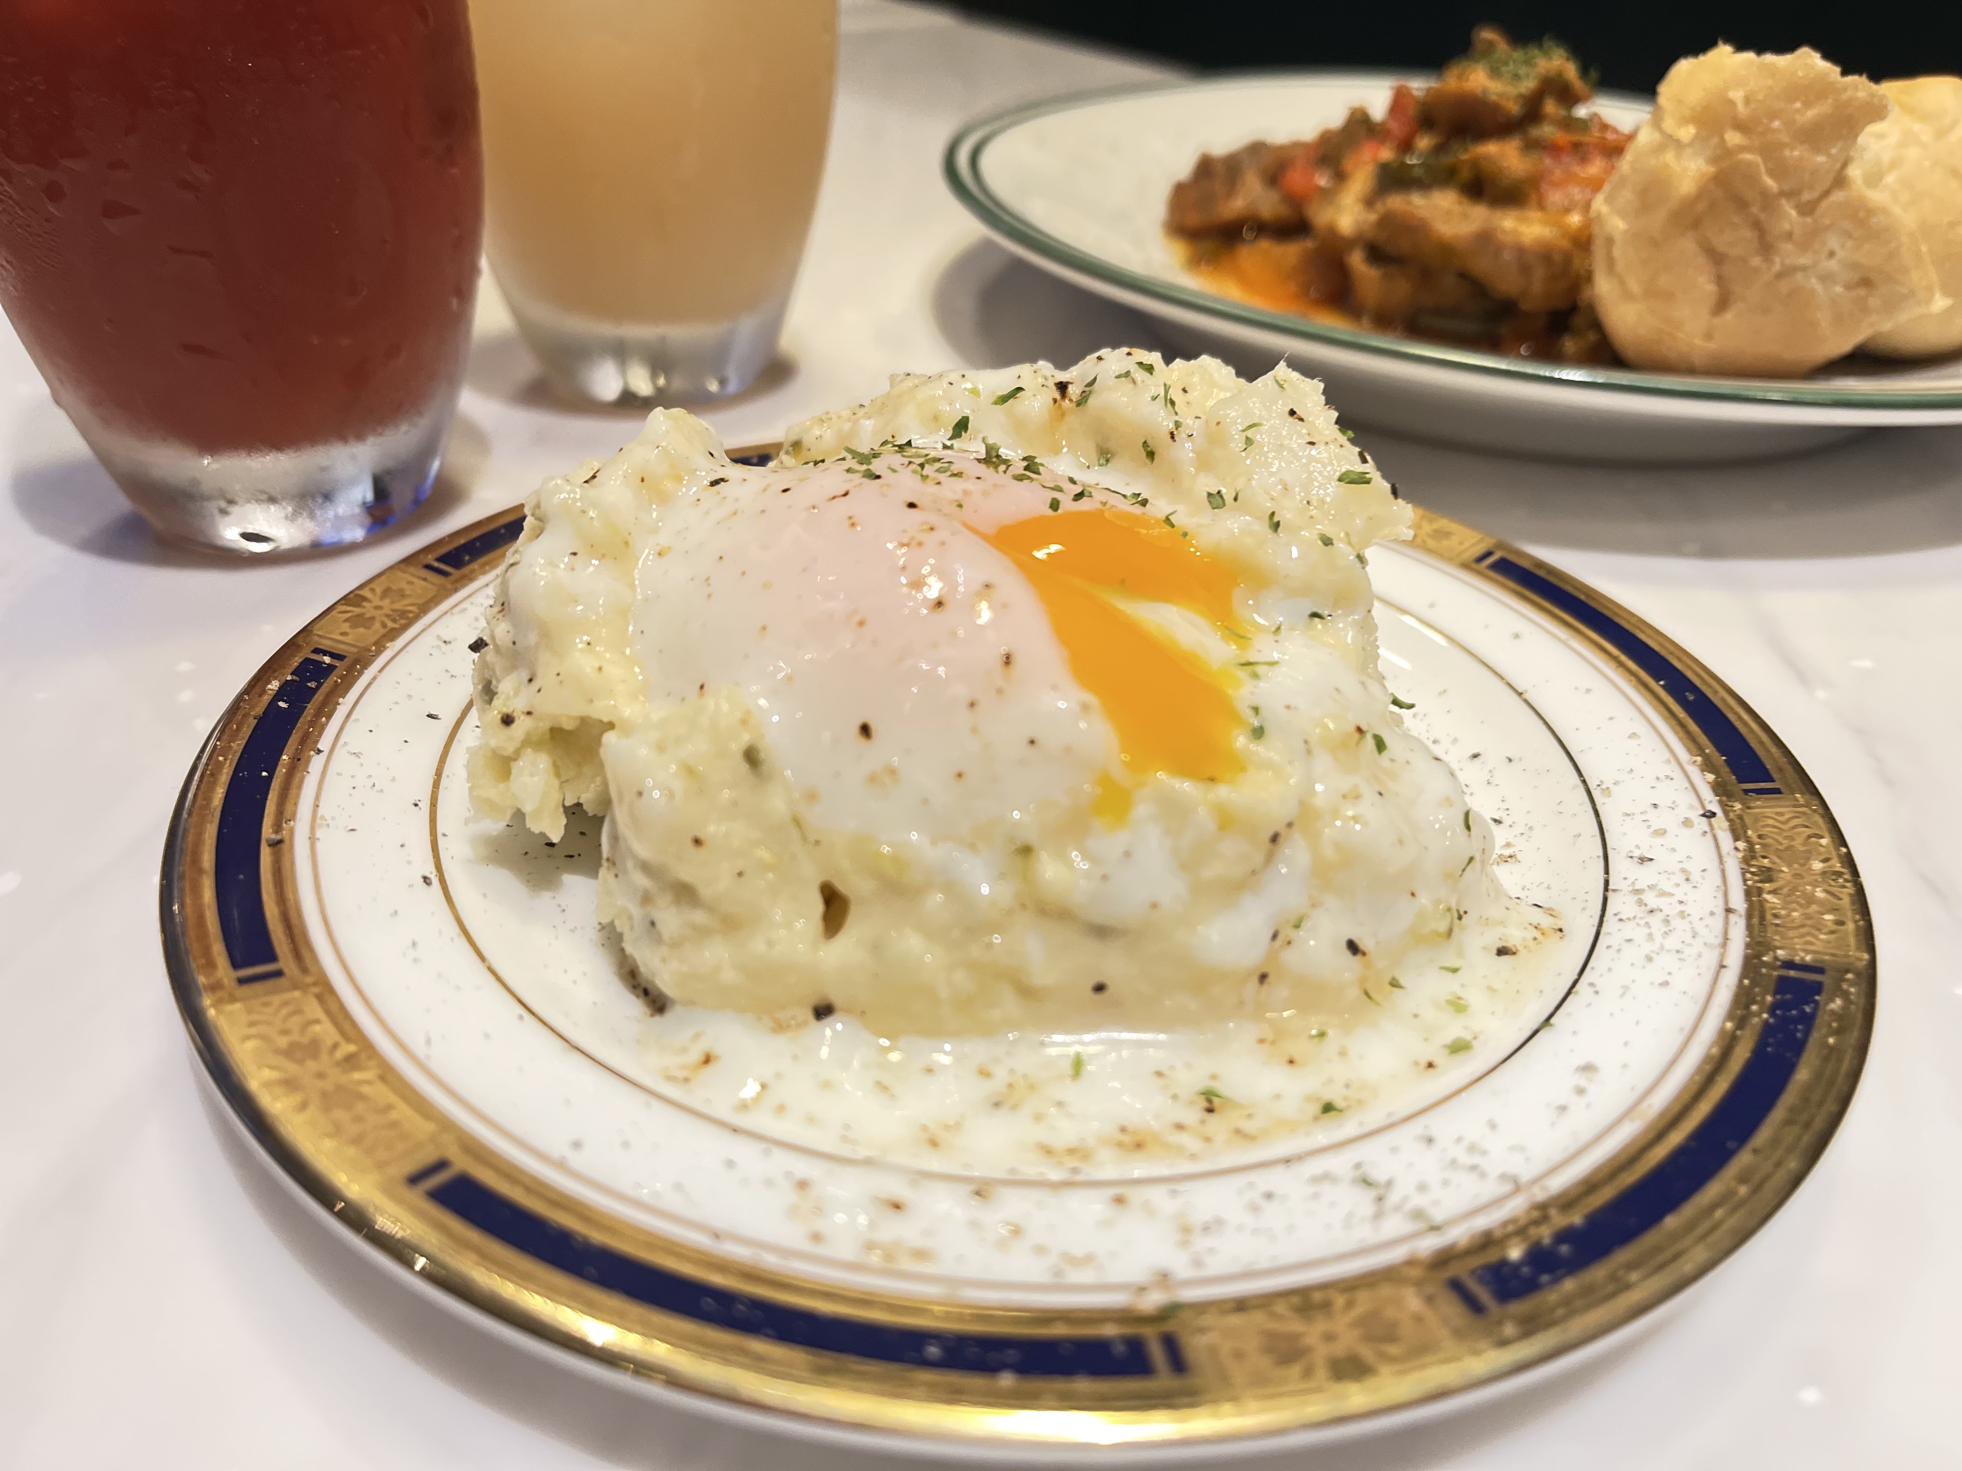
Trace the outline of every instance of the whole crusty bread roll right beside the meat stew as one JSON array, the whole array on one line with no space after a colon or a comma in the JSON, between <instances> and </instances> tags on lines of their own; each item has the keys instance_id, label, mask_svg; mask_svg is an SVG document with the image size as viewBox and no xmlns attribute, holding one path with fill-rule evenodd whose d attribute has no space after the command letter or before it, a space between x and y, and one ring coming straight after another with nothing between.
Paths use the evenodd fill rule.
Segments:
<instances>
[{"instance_id":1,"label":"whole crusty bread roll right beside the meat stew","mask_svg":"<svg viewBox=\"0 0 1962 1471\"><path fill-rule=\"evenodd\" d=\"M1797 377L1940 300L1887 198L1848 171L1887 94L1817 51L1670 67L1593 204L1595 306L1634 367Z\"/></svg>"}]
</instances>

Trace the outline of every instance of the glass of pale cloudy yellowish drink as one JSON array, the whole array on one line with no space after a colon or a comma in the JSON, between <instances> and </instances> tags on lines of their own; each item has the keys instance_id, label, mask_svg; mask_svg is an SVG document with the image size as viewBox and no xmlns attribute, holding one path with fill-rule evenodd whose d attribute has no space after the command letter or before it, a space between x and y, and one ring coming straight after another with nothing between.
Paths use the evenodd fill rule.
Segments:
<instances>
[{"instance_id":1,"label":"glass of pale cloudy yellowish drink","mask_svg":"<svg viewBox=\"0 0 1962 1471\"><path fill-rule=\"evenodd\" d=\"M471 0L471 27L487 253L545 377L748 386L818 196L838 0Z\"/></svg>"}]
</instances>

